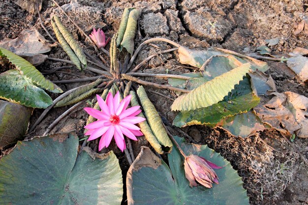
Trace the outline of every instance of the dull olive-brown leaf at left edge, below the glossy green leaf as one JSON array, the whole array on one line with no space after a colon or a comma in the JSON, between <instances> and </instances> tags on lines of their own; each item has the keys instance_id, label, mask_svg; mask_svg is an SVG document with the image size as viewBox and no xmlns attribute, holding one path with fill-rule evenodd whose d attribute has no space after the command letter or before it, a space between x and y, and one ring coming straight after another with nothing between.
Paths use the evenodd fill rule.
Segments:
<instances>
[{"instance_id":1,"label":"dull olive-brown leaf at left edge, below the glossy green leaf","mask_svg":"<svg viewBox=\"0 0 308 205\"><path fill-rule=\"evenodd\" d=\"M32 110L16 103L0 100L0 148L23 140Z\"/></svg>"}]
</instances>

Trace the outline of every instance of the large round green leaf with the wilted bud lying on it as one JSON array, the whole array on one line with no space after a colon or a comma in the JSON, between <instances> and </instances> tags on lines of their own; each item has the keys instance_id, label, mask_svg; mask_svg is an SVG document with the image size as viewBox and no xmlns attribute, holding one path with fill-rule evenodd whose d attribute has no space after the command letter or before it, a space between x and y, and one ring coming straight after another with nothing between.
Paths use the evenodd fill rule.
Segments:
<instances>
[{"instance_id":1,"label":"large round green leaf with the wilted bud lying on it","mask_svg":"<svg viewBox=\"0 0 308 205\"><path fill-rule=\"evenodd\" d=\"M185 178L184 158L174 148L168 154L169 167L149 148L143 148L127 173L128 205L247 205L242 179L230 163L207 146L187 144L176 137L186 154L202 156L222 169L215 170L219 184L208 189L191 188ZM146 160L145 160L146 159Z\"/></svg>"}]
</instances>

